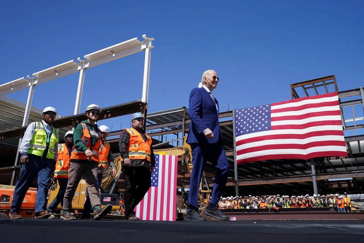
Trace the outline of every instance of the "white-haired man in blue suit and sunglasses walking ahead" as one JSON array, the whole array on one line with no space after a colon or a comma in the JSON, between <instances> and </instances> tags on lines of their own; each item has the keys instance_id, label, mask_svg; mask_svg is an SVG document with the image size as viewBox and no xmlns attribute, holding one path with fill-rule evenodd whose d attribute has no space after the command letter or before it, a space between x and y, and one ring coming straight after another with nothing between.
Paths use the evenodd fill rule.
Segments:
<instances>
[{"instance_id":1,"label":"white-haired man in blue suit and sunglasses walking ahead","mask_svg":"<svg viewBox=\"0 0 364 243\"><path fill-rule=\"evenodd\" d=\"M190 94L189 116L191 118L187 143L192 148L193 169L190 179L189 212L186 221L205 220L198 212L198 190L203 168L209 160L216 168L215 184L211 201L205 214L218 220L229 217L222 214L218 201L226 185L229 162L222 146L222 134L219 125L219 105L212 91L216 89L219 78L214 70L207 70L202 75L202 87L195 88Z\"/></svg>"}]
</instances>

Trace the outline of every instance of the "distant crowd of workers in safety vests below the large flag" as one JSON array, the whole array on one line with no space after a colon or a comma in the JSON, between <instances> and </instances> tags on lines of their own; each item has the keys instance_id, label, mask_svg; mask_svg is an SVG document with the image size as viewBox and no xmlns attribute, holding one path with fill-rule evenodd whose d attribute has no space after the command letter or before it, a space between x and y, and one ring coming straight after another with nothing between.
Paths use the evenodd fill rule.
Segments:
<instances>
[{"instance_id":1,"label":"distant crowd of workers in safety vests below the large flag","mask_svg":"<svg viewBox=\"0 0 364 243\"><path fill-rule=\"evenodd\" d=\"M305 196L230 196L220 197L220 209L249 209L249 208L324 208L337 207L339 212L351 212L351 198L345 192L339 194L316 195L312 198Z\"/></svg>"}]
</instances>

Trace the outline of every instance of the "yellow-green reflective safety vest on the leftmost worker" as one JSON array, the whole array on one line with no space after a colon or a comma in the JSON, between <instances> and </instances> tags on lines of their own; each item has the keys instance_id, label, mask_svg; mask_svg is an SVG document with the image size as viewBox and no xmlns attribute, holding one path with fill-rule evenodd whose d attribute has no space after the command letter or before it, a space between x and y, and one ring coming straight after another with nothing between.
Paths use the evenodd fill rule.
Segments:
<instances>
[{"instance_id":1,"label":"yellow-green reflective safety vest on the leftmost worker","mask_svg":"<svg viewBox=\"0 0 364 243\"><path fill-rule=\"evenodd\" d=\"M43 156L44 150L47 149L47 132L44 129L42 122L35 122L34 135L29 142L28 154L33 154L39 157ZM54 147L59 141L58 130L52 126L52 134L49 138L49 146L46 158L53 159L55 150Z\"/></svg>"}]
</instances>

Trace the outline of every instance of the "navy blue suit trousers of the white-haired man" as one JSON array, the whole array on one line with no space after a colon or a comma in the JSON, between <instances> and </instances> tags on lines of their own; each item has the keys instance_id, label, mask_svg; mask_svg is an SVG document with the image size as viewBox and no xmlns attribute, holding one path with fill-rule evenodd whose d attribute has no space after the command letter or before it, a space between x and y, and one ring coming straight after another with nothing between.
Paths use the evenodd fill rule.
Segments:
<instances>
[{"instance_id":1,"label":"navy blue suit trousers of the white-haired man","mask_svg":"<svg viewBox=\"0 0 364 243\"><path fill-rule=\"evenodd\" d=\"M215 183L212 189L210 205L218 204L220 195L226 185L229 174L229 162L227 161L225 150L220 144L198 144L192 143L193 169L190 178L189 210L198 211L198 192L202 177L203 168L209 160L216 168Z\"/></svg>"}]
</instances>

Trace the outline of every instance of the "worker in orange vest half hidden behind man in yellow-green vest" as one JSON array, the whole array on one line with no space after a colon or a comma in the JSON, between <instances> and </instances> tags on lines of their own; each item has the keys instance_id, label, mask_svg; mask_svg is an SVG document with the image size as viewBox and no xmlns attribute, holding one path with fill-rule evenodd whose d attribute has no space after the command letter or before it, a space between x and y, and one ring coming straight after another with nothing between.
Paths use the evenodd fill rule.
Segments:
<instances>
[{"instance_id":1,"label":"worker in orange vest half hidden behind man in yellow-green vest","mask_svg":"<svg viewBox=\"0 0 364 243\"><path fill-rule=\"evenodd\" d=\"M68 131L64 136L64 144L58 144L58 157L54 171L54 177L51 180L50 190L54 191L59 185L57 196L48 205L47 211L51 213L50 219L54 219L54 211L59 204L63 207L63 197L66 192L68 183L68 170L70 169L70 157L72 153L73 131Z\"/></svg>"}]
</instances>

